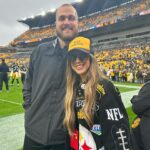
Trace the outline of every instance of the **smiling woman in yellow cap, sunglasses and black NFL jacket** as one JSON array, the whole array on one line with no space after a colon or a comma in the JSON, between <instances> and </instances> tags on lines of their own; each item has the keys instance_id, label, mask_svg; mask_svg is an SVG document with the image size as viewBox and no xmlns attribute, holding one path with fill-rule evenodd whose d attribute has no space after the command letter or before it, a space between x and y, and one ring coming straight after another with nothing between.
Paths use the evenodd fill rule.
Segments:
<instances>
[{"instance_id":1,"label":"smiling woman in yellow cap, sunglasses and black NFL jacket","mask_svg":"<svg viewBox=\"0 0 150 150\"><path fill-rule=\"evenodd\" d=\"M90 40L69 44L64 124L68 150L131 150L120 93L99 71Z\"/></svg>"}]
</instances>

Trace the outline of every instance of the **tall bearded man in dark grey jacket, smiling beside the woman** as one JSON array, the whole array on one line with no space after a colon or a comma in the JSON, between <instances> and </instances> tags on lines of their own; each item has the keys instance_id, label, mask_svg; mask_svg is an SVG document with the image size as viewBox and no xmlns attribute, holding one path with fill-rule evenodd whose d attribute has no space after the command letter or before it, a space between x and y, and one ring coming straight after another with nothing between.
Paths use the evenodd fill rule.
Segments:
<instances>
[{"instance_id":1,"label":"tall bearded man in dark grey jacket, smiling beside the woman","mask_svg":"<svg viewBox=\"0 0 150 150\"><path fill-rule=\"evenodd\" d=\"M57 39L34 50L23 88L24 150L63 150L67 45L78 34L78 15L70 4L56 11Z\"/></svg>"}]
</instances>

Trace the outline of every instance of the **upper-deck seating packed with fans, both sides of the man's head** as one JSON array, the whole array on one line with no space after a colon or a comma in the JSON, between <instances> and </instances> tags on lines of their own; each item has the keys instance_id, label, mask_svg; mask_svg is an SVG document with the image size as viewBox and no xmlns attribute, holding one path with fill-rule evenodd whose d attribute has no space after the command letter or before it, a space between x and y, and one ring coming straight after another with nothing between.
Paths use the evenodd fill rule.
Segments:
<instances>
[{"instance_id":1,"label":"upper-deck seating packed with fans, both sides of the man's head","mask_svg":"<svg viewBox=\"0 0 150 150\"><path fill-rule=\"evenodd\" d=\"M150 10L150 3L148 1L131 1L130 3L124 3L124 5L115 6L111 9L104 9L93 14L81 16L79 19L79 32L85 32L87 30L94 30L97 28L103 28L108 25L112 25L118 22L125 21L134 16L141 16L148 14ZM80 10L81 11L81 10ZM92 32L93 34L93 32ZM40 43L41 40L51 38L55 36L55 24L47 25L43 27L30 28L28 31L20 35L14 41L11 42L12 46L27 45L30 43Z\"/></svg>"}]
</instances>

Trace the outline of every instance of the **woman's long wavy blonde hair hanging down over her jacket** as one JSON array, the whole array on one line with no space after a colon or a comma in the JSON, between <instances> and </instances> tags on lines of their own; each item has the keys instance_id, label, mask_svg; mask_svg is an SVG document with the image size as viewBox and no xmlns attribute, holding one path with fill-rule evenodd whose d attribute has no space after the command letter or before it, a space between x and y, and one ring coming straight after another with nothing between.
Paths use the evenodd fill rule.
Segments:
<instances>
[{"instance_id":1,"label":"woman's long wavy blonde hair hanging down over her jacket","mask_svg":"<svg viewBox=\"0 0 150 150\"><path fill-rule=\"evenodd\" d=\"M75 83L79 76L72 70L71 63L67 64L67 88L65 96L65 118L64 124L67 127L69 134L73 134L75 125L75 111L74 111L74 100L76 94ZM94 107L96 103L96 86L100 78L103 76L101 73L97 61L94 56L90 56L90 67L86 75L86 86L85 86L85 105L83 112L85 120L89 127L93 125Z\"/></svg>"}]
</instances>

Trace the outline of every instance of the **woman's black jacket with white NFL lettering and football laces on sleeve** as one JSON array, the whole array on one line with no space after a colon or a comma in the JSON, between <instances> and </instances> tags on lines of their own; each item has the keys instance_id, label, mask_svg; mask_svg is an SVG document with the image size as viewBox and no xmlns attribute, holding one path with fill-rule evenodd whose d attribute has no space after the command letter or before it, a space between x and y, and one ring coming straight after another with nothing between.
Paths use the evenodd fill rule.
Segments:
<instances>
[{"instance_id":1,"label":"woman's black jacket with white NFL lettering and football laces on sleeve","mask_svg":"<svg viewBox=\"0 0 150 150\"><path fill-rule=\"evenodd\" d=\"M76 122L78 122L76 129L80 132L78 138L82 149L90 147L92 150L132 150L128 115L120 93L113 84L103 79L97 86L97 102L92 128L88 127L82 114L83 97L84 89L79 86L77 87L75 109ZM74 138L67 139L67 145L74 145L73 140ZM66 146L66 149L73 150L71 146Z\"/></svg>"}]
</instances>

